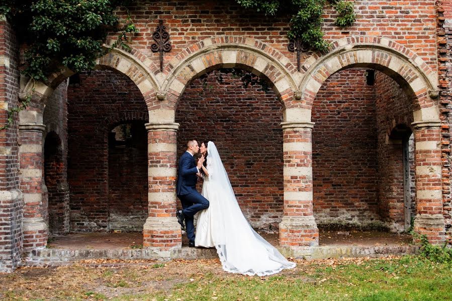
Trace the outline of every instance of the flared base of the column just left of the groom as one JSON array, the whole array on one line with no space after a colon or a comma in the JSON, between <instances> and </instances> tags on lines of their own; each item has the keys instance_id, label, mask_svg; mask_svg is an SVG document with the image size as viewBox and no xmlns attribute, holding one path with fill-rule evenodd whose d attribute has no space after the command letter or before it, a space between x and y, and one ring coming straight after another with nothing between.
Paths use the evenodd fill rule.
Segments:
<instances>
[{"instance_id":1,"label":"flared base of the column just left of the groom","mask_svg":"<svg viewBox=\"0 0 452 301\"><path fill-rule=\"evenodd\" d=\"M143 247L170 257L182 247L182 232L175 217L148 217L143 225Z\"/></svg>"}]
</instances>

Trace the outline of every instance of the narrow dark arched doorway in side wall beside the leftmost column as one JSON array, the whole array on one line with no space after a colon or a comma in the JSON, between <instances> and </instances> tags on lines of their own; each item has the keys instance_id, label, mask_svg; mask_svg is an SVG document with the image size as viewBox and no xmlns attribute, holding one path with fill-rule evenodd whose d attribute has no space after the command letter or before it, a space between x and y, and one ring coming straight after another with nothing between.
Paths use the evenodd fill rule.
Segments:
<instances>
[{"instance_id":1,"label":"narrow dark arched doorway in side wall beside the leftmost column","mask_svg":"<svg viewBox=\"0 0 452 301\"><path fill-rule=\"evenodd\" d=\"M44 181L48 195L49 233L69 231L69 193L63 146L58 134L47 133L44 142Z\"/></svg>"}]
</instances>

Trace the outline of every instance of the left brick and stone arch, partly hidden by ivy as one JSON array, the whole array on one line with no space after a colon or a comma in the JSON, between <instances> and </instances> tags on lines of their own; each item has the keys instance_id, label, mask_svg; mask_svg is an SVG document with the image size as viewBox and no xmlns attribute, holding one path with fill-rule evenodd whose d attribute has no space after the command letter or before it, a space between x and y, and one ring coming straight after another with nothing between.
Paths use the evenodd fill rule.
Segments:
<instances>
[{"instance_id":1,"label":"left brick and stone arch, partly hidden by ivy","mask_svg":"<svg viewBox=\"0 0 452 301\"><path fill-rule=\"evenodd\" d=\"M154 75L140 60L128 52L114 48L96 61L95 69L106 68L114 69L129 77L141 91L147 107L153 105L159 85ZM46 82L30 79L21 92L30 93L45 100L52 94L54 88L73 74L72 70L63 68L61 71L49 75Z\"/></svg>"}]
</instances>

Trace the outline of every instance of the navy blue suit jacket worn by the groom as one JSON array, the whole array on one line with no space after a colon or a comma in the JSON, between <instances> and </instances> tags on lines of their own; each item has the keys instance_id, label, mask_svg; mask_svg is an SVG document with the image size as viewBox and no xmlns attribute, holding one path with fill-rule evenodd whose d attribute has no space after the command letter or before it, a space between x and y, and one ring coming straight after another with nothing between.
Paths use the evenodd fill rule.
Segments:
<instances>
[{"instance_id":1,"label":"navy blue suit jacket worn by the groom","mask_svg":"<svg viewBox=\"0 0 452 301\"><path fill-rule=\"evenodd\" d=\"M178 196L188 195L196 191L197 172L195 158L190 153L185 152L180 156L176 183L176 194Z\"/></svg>"}]
</instances>

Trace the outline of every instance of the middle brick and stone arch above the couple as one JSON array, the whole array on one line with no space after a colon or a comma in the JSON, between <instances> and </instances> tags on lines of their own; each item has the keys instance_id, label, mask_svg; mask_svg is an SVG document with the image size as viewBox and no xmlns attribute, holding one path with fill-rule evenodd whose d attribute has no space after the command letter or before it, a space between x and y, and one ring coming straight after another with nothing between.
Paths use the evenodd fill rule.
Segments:
<instances>
[{"instance_id":1,"label":"middle brick and stone arch above the couple","mask_svg":"<svg viewBox=\"0 0 452 301\"><path fill-rule=\"evenodd\" d=\"M252 39L241 39L252 41ZM219 68L240 68L257 76L266 77L273 84L273 89L283 105L293 98L296 81L290 69L283 65L286 60L287 64L291 65L289 59L281 57L279 60L278 55L273 56L249 45L224 43L210 44L210 46L184 57L183 61L171 61L172 63L177 62L177 65L168 67L168 71L171 73L167 76L162 88L166 92L168 110L175 109L178 99L190 81ZM261 48L266 49L264 46ZM172 64L170 63L170 65ZM174 116L167 121L173 122L173 120Z\"/></svg>"}]
</instances>

